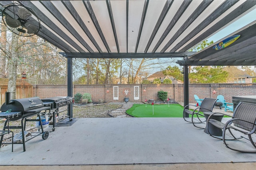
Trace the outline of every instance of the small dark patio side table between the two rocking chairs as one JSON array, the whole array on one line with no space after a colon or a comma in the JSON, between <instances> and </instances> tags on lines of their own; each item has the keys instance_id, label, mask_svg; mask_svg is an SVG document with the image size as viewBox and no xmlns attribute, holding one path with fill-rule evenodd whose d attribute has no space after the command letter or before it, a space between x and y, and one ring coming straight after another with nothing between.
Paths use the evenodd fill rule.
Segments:
<instances>
[{"instance_id":1,"label":"small dark patio side table between the two rocking chairs","mask_svg":"<svg viewBox=\"0 0 256 170\"><path fill-rule=\"evenodd\" d=\"M208 117L209 117L212 113L215 113L215 112L211 112L211 111L206 111L206 112L204 112L204 116L205 116L206 120L208 120ZM212 115L211 118L212 118L212 119L215 119L215 120L218 120L218 121L221 121L222 118L223 118L223 115L220 114L220 113L216 113L216 114ZM212 124L209 124L209 125L208 125L208 121L206 121L206 127L205 127L205 129L204 129L204 132L205 132L205 133L209 134L209 133L207 132L207 129L206 129L207 126L208 126L208 131L210 132L211 135L213 135L213 136L222 136L222 129L220 129L220 128L216 127L216 126L213 126Z\"/></svg>"}]
</instances>

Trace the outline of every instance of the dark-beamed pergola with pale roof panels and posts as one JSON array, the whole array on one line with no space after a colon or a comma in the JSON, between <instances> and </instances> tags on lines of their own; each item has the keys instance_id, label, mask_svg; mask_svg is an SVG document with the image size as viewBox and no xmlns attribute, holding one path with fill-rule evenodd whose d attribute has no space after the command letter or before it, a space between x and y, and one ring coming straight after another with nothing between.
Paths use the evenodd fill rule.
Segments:
<instances>
[{"instance_id":1,"label":"dark-beamed pergola with pale roof panels and posts","mask_svg":"<svg viewBox=\"0 0 256 170\"><path fill-rule=\"evenodd\" d=\"M0 1L0 12L10 3ZM256 65L256 21L228 35L239 34L240 38L224 49L216 51L211 45L198 53L188 52L254 10L256 0L17 3L30 8L41 20L37 35L64 51L61 54L68 61L68 96L72 96L72 58L182 57L177 63L184 67L184 105L188 104L188 66ZM72 106L69 110L72 112Z\"/></svg>"}]
</instances>

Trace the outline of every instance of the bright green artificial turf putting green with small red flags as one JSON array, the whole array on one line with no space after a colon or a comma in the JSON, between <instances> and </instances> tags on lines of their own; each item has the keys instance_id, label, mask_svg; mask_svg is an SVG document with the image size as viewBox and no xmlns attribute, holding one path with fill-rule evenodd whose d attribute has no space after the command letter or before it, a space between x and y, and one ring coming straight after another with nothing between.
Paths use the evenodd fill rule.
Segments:
<instances>
[{"instance_id":1,"label":"bright green artificial turf putting green with small red flags","mask_svg":"<svg viewBox=\"0 0 256 170\"><path fill-rule=\"evenodd\" d=\"M153 115L154 107L154 115ZM183 107L179 104L134 104L126 111L134 117L183 117Z\"/></svg>"}]
</instances>

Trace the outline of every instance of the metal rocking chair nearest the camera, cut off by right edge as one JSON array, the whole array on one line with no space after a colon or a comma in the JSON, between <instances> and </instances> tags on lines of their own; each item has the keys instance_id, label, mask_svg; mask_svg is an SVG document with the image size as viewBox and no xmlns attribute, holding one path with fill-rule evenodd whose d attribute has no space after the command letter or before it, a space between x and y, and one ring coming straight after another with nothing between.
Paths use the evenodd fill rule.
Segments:
<instances>
[{"instance_id":1,"label":"metal rocking chair nearest the camera, cut off by right edge","mask_svg":"<svg viewBox=\"0 0 256 170\"><path fill-rule=\"evenodd\" d=\"M212 113L208 117L208 126L211 124L219 129L223 129L222 137L211 135L207 126L206 129L209 135L222 139L229 149L239 152L256 152L256 104L240 102L234 110L232 119L226 123L212 119L214 114L216 113Z\"/></svg>"}]
</instances>

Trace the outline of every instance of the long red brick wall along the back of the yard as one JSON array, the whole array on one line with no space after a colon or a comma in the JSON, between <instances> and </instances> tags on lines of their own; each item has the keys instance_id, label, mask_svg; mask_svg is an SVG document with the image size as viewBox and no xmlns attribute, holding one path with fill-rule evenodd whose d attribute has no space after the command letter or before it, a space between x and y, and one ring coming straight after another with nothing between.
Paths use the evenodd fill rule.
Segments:
<instances>
[{"instance_id":1,"label":"long red brick wall along the back of the yard","mask_svg":"<svg viewBox=\"0 0 256 170\"><path fill-rule=\"evenodd\" d=\"M113 100L113 86L118 86L118 100ZM134 100L134 86L139 86L139 100ZM109 92L107 92L109 90ZM124 90L128 90L126 96ZM146 90L146 92L144 92ZM92 101L98 102L144 102L145 99L158 100L157 92L168 92L170 100L184 102L183 84L115 84L115 85L74 85L73 96L76 93L90 93ZM212 91L216 94L212 94ZM256 95L256 84L189 84L189 102L195 103L194 94L199 98L216 98L219 94L224 96L226 102L232 103L232 96ZM54 96L67 96L67 86L34 86L33 96L48 98Z\"/></svg>"}]
</instances>

